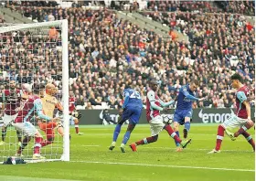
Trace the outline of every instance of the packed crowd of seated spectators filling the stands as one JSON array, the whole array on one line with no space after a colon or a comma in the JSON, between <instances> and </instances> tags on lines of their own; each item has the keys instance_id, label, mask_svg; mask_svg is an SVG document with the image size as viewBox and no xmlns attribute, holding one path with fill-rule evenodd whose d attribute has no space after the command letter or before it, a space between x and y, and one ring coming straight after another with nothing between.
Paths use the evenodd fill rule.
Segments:
<instances>
[{"instance_id":1,"label":"packed crowd of seated spectators filling the stands","mask_svg":"<svg viewBox=\"0 0 256 181\"><path fill-rule=\"evenodd\" d=\"M196 79L200 81L197 96L208 99L195 102L195 108L233 107L235 97L229 91L229 78L234 72L240 72L254 98L254 27L249 28L240 16L191 16L178 12L186 25L175 26L190 38L189 42L175 42L171 38L164 41L153 31L119 19L105 8L92 11L26 5L19 11L39 22L48 21L49 16L50 20L69 20L69 90L74 91L77 105L91 109L108 102L111 108L121 107L127 84L140 91L145 103L148 80L156 78L162 81L159 94L163 101L175 99L182 85ZM59 80L61 86L59 37L44 39L29 36L29 32L19 34L8 35L5 43L0 43L0 69L9 69L8 77L17 81ZM46 53L42 56L40 52ZM5 80L0 77L0 81Z\"/></svg>"}]
</instances>

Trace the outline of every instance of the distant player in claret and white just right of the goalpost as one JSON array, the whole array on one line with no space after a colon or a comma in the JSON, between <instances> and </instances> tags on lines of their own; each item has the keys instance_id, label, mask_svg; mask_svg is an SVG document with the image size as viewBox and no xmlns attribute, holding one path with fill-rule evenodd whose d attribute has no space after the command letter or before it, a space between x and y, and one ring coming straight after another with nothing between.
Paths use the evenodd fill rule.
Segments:
<instances>
[{"instance_id":1,"label":"distant player in claret and white just right of the goalpost","mask_svg":"<svg viewBox=\"0 0 256 181\"><path fill-rule=\"evenodd\" d=\"M75 101L76 101L76 98L74 96L73 91L69 91L69 121L75 122L76 133L79 135L82 135L83 133L80 133L80 128L79 128L79 122L80 122L79 119L81 118L81 114L76 110ZM77 115L73 116L74 112L77 112Z\"/></svg>"}]
</instances>

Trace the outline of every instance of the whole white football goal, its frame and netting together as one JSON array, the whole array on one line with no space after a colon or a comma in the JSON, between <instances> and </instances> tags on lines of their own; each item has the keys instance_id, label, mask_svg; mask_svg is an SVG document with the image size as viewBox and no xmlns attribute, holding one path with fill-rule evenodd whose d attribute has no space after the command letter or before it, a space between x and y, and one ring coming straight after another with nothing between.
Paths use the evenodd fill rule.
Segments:
<instances>
[{"instance_id":1,"label":"whole white football goal, its frame and netting together","mask_svg":"<svg viewBox=\"0 0 256 181\"><path fill-rule=\"evenodd\" d=\"M67 20L0 26L0 104L5 108L4 112L1 106L0 162L5 162L8 157L21 157L27 162L69 161L68 61ZM14 82L16 91L13 89ZM22 129L18 133L16 132L16 127L13 125L17 118L15 114L17 111L14 111L15 113L8 112L6 109L24 110L25 107L22 106L25 106L28 100L26 99L28 96L25 95L35 94L36 90L33 90L35 85L47 85L48 83L54 84L58 88L54 97L63 106L63 116L58 121L58 126L63 127L64 135L57 132L58 126L53 127L53 142L51 141L47 145L43 144L48 141L47 135L44 130L39 128L37 112L34 111L28 121L42 135L39 145L38 141L35 142L35 136L28 136ZM29 89L31 90L29 91ZM44 87L40 89L45 90ZM43 112L44 109L47 108L43 105ZM6 122L6 120L8 121ZM28 141L29 139L30 141ZM40 148L38 157L35 157L35 147ZM20 154L21 148L22 153Z\"/></svg>"}]
</instances>

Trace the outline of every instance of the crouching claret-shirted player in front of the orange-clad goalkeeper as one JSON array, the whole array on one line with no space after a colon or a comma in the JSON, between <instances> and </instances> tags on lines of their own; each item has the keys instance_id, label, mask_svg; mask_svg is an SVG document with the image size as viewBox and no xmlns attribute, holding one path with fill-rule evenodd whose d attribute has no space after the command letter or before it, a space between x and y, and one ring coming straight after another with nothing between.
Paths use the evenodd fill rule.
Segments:
<instances>
[{"instance_id":1,"label":"crouching claret-shirted player in front of the orange-clad goalkeeper","mask_svg":"<svg viewBox=\"0 0 256 181\"><path fill-rule=\"evenodd\" d=\"M43 114L42 112L42 102L40 100L40 86L36 85L34 87L34 95L29 95L27 100L23 102L23 105L20 107L20 111L16 116L15 123L13 126L22 133L25 134L25 138L19 146L16 156L22 155L22 150L27 146L28 142L31 140L31 137L35 137L35 146L33 159L45 159L45 157L40 155L41 143L43 143L43 137L38 132L37 128L29 122L32 118L33 112L37 113L39 119L44 119L47 122L56 122L58 118L50 118Z\"/></svg>"}]
</instances>

